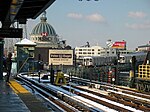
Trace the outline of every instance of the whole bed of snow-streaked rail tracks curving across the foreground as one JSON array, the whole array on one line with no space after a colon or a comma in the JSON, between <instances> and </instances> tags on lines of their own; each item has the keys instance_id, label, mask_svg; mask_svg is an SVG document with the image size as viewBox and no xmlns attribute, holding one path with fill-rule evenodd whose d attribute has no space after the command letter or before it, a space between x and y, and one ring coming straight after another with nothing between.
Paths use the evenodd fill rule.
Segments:
<instances>
[{"instance_id":1,"label":"whole bed of snow-streaked rail tracks curving across the foreground","mask_svg":"<svg viewBox=\"0 0 150 112\"><path fill-rule=\"evenodd\" d=\"M149 100L142 100L142 98L140 100L137 100L134 97L130 96L132 94L132 96L144 96L145 99L149 99L148 95L136 92L134 93L129 89L117 88L117 86L112 86L110 84L107 85L106 83L105 85L103 84L103 86L107 86L107 90L108 88L109 90L105 91L105 94L102 94L102 92L96 92L100 91L100 88L98 87L102 86L102 84L95 84L94 82L92 82L92 86L94 88L89 88L88 86L82 87L77 85L61 86L60 88L58 86L46 83L39 84L38 81L28 79L27 77L23 77L22 75L19 75L17 79L25 81L26 83L28 83L28 86L30 88L32 88L33 90L36 89L36 91L49 99L50 102L56 104L57 106L55 107L60 107L65 111L150 111ZM91 82L87 83L91 84ZM97 87L98 89L96 89L95 87ZM118 92L124 93L128 97L125 95L119 95Z\"/></svg>"}]
</instances>

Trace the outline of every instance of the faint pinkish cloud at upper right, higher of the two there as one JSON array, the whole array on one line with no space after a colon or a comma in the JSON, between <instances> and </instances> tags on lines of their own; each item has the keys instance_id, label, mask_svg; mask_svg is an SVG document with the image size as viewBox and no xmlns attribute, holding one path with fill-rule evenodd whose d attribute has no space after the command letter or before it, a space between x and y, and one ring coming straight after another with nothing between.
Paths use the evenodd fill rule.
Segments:
<instances>
[{"instance_id":1,"label":"faint pinkish cloud at upper right, higher of the two there","mask_svg":"<svg viewBox=\"0 0 150 112\"><path fill-rule=\"evenodd\" d=\"M146 17L146 13L144 12L129 12L128 13L128 17L131 17L131 18L144 18Z\"/></svg>"}]
</instances>

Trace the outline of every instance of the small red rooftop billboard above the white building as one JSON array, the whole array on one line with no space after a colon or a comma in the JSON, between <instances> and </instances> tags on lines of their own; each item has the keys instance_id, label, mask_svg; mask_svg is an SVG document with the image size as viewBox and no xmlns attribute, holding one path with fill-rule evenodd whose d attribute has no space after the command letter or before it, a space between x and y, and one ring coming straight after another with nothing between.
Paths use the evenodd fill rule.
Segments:
<instances>
[{"instance_id":1,"label":"small red rooftop billboard above the white building","mask_svg":"<svg viewBox=\"0 0 150 112\"><path fill-rule=\"evenodd\" d=\"M112 45L114 49L126 49L126 41L117 41Z\"/></svg>"}]
</instances>

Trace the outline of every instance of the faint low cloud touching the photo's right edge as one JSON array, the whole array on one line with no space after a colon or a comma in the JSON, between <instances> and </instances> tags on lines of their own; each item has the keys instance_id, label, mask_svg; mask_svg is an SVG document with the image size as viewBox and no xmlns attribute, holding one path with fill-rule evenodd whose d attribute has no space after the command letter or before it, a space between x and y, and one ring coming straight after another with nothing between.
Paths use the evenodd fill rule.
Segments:
<instances>
[{"instance_id":1,"label":"faint low cloud touching the photo's right edge","mask_svg":"<svg viewBox=\"0 0 150 112\"><path fill-rule=\"evenodd\" d=\"M126 24L127 28L134 29L134 30L142 30L142 29L150 29L150 22L145 23L134 23L134 24Z\"/></svg>"}]
</instances>

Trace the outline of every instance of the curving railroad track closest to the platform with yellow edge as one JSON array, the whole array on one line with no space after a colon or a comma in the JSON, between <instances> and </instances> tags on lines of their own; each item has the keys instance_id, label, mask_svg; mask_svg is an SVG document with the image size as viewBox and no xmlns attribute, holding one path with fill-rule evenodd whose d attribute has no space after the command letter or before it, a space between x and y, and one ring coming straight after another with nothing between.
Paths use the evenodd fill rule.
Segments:
<instances>
[{"instance_id":1,"label":"curving railroad track closest to the platform with yellow edge","mask_svg":"<svg viewBox=\"0 0 150 112\"><path fill-rule=\"evenodd\" d=\"M21 83L24 83L25 85L30 87L32 90L36 90L37 92L39 92L41 94L41 96L48 99L48 102L50 103L50 107L54 111L78 112L80 110L84 110L85 112L90 112L90 110L88 110L88 109L85 110L85 108L83 109L82 107L80 107L80 110L78 110L78 109L74 108L73 106L65 103L64 101L62 101L59 98L54 96L55 95L54 91L49 90L44 85L41 85L33 80L25 78L21 75L19 75L16 79L21 81Z\"/></svg>"}]
</instances>

